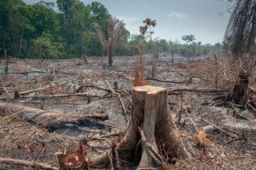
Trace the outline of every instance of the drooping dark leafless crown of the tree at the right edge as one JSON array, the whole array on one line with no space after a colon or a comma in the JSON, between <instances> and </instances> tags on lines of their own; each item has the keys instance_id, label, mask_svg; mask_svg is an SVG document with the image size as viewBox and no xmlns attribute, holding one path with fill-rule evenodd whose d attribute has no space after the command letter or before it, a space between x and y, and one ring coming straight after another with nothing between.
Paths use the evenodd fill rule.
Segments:
<instances>
[{"instance_id":1,"label":"drooping dark leafless crown of the tree at the right edge","mask_svg":"<svg viewBox=\"0 0 256 170\"><path fill-rule=\"evenodd\" d=\"M226 50L238 57L255 45L256 0L228 0L231 13L223 44Z\"/></svg>"}]
</instances>

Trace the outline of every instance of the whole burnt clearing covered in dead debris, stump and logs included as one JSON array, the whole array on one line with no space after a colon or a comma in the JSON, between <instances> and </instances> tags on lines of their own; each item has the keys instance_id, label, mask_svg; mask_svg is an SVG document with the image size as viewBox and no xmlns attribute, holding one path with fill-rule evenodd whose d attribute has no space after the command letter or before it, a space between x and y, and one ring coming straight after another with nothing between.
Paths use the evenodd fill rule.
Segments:
<instances>
[{"instance_id":1,"label":"whole burnt clearing covered in dead debris, stump and logs included","mask_svg":"<svg viewBox=\"0 0 256 170\"><path fill-rule=\"evenodd\" d=\"M58 66L41 62L42 67L35 60L18 61L30 68L28 74L9 63L8 74L1 75L1 169L253 169L252 55L233 64L223 53L206 60L176 57L169 66L165 62L171 62L171 55L161 56L154 79L149 77L150 55L142 54L130 57L130 64L116 57L106 72L101 58L88 58L86 64L59 60ZM142 58L144 64L134 71ZM226 100L240 81L241 68L252 73L247 107ZM167 91L150 95L140 90L146 84ZM155 104L144 108L143 96ZM150 115L152 111L163 115Z\"/></svg>"}]
</instances>

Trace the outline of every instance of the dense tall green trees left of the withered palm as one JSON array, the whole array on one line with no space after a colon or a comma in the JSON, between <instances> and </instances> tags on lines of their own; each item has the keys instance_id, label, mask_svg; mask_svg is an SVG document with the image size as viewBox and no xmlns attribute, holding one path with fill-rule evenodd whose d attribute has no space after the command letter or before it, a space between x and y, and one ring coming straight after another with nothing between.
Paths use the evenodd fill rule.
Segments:
<instances>
[{"instance_id":1,"label":"dense tall green trees left of the withered palm","mask_svg":"<svg viewBox=\"0 0 256 170\"><path fill-rule=\"evenodd\" d=\"M26 5L21 0L0 1L0 57L55 58L101 55L101 45L90 38L89 25L111 17L99 2L84 5L79 0L40 1Z\"/></svg>"}]
</instances>

